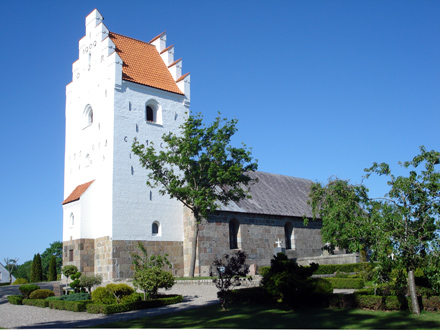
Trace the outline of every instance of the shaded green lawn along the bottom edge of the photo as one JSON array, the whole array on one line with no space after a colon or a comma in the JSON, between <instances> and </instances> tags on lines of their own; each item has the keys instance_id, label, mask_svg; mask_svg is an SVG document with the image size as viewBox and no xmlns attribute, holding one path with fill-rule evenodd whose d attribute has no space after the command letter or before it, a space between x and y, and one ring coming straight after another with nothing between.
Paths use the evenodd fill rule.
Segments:
<instances>
[{"instance_id":1,"label":"shaded green lawn along the bottom edge of the photo","mask_svg":"<svg viewBox=\"0 0 440 330\"><path fill-rule=\"evenodd\" d=\"M348 309L305 309L295 312L273 306L220 305L180 313L107 323L102 328L336 328L336 329L439 329L440 313L419 316L406 312Z\"/></svg>"}]
</instances>

